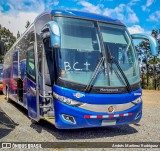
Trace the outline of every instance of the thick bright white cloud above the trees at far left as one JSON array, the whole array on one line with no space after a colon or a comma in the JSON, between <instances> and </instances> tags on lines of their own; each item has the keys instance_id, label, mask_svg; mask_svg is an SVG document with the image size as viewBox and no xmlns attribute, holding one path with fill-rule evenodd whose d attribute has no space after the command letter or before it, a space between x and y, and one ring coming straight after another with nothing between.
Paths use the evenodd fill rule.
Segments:
<instances>
[{"instance_id":1,"label":"thick bright white cloud above the trees at far left","mask_svg":"<svg viewBox=\"0 0 160 151\"><path fill-rule=\"evenodd\" d=\"M13 32L14 36L17 36L18 30L21 34L26 30L26 21L32 23L37 15L38 13L34 12L20 12L16 16L0 13L0 24Z\"/></svg>"}]
</instances>

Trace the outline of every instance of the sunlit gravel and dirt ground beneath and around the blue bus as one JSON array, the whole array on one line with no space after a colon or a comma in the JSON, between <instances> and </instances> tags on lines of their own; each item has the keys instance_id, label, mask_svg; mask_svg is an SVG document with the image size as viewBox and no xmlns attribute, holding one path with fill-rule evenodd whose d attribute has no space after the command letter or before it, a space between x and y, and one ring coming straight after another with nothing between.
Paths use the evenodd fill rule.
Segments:
<instances>
[{"instance_id":1,"label":"sunlit gravel and dirt ground beneath and around the blue bus","mask_svg":"<svg viewBox=\"0 0 160 151\"><path fill-rule=\"evenodd\" d=\"M160 91L143 90L143 117L138 124L79 130L58 130L43 120L33 124L26 109L14 102L8 103L4 95L0 95L0 142L5 141L160 142Z\"/></svg>"}]
</instances>

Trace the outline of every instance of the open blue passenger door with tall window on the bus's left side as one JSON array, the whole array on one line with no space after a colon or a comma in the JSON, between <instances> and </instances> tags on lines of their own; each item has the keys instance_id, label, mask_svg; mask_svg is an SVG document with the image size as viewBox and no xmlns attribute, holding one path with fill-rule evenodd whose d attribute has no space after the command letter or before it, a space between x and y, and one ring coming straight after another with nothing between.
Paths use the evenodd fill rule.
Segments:
<instances>
[{"instance_id":1,"label":"open blue passenger door with tall window on the bus's left side","mask_svg":"<svg viewBox=\"0 0 160 151\"><path fill-rule=\"evenodd\" d=\"M36 66L35 66L35 55L34 45L30 46L27 51L27 103L28 103L28 115L30 118L38 121L39 120L39 102L36 97Z\"/></svg>"}]
</instances>

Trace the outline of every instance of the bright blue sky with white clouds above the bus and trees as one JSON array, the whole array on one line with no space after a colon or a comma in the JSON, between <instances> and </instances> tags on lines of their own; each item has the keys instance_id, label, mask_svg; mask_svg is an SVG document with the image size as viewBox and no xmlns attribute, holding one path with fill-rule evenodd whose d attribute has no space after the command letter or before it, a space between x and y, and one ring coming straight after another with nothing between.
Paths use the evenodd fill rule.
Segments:
<instances>
[{"instance_id":1,"label":"bright blue sky with white clouds above the bus and trees","mask_svg":"<svg viewBox=\"0 0 160 151\"><path fill-rule=\"evenodd\" d=\"M119 19L130 33L160 29L159 0L0 0L0 24L16 36L43 11L74 9Z\"/></svg>"}]
</instances>

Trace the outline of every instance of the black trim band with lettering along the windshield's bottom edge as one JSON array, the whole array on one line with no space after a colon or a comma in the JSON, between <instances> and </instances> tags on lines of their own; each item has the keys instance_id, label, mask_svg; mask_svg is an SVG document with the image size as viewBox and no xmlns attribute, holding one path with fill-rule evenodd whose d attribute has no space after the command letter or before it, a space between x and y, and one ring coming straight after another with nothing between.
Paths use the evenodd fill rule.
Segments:
<instances>
[{"instance_id":1,"label":"black trim band with lettering along the windshield's bottom edge","mask_svg":"<svg viewBox=\"0 0 160 151\"><path fill-rule=\"evenodd\" d=\"M72 90L77 90L77 91L81 91L81 92L85 92L86 89L86 85L84 84L79 84L79 83L75 83L72 81L66 81L66 80L62 80L61 78L58 78L57 85L65 87L65 88L69 88ZM131 89L132 91L135 91L137 89L141 88L140 86L140 82L137 82L135 84L131 85ZM126 89L126 86L122 86L122 87L92 87L92 90L90 91L90 93L96 93L96 94L120 94L120 93L128 93L128 90Z\"/></svg>"}]
</instances>

